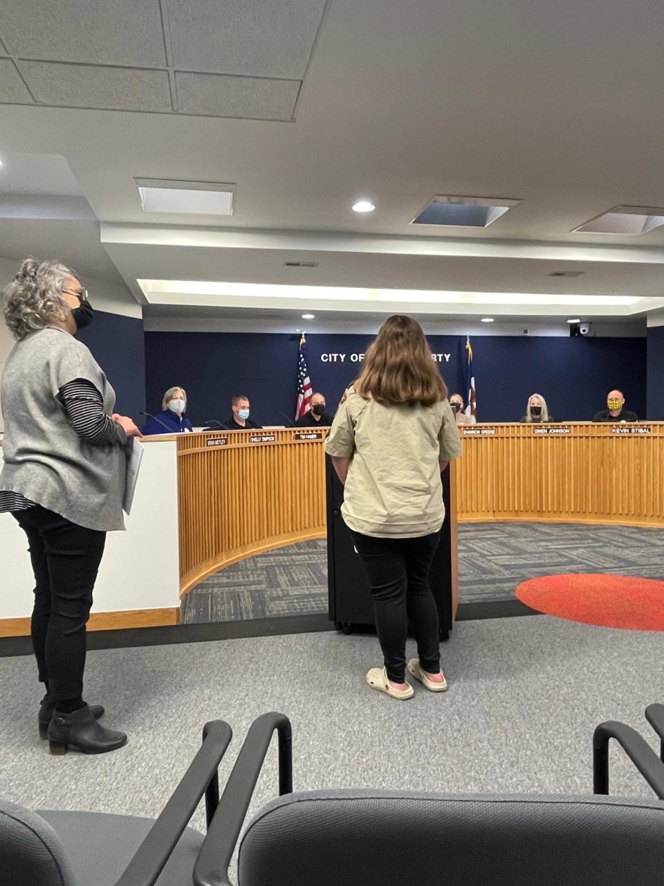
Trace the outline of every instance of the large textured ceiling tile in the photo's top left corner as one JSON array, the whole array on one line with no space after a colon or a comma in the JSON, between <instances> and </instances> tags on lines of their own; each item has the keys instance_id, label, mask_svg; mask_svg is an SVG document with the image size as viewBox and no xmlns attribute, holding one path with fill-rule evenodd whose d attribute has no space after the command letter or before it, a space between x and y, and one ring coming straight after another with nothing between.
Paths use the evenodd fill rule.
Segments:
<instances>
[{"instance_id":1,"label":"large textured ceiling tile in the photo's top left corner","mask_svg":"<svg viewBox=\"0 0 664 886\"><path fill-rule=\"evenodd\" d=\"M166 65L158 0L3 0L0 31L19 57Z\"/></svg>"}]
</instances>

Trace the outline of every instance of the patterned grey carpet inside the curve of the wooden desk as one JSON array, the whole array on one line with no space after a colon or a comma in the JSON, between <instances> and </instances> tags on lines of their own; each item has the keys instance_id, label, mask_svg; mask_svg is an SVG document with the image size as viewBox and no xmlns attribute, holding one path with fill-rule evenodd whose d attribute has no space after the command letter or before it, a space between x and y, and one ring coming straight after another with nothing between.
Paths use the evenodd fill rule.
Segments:
<instances>
[{"instance_id":1,"label":"patterned grey carpet inside the curve of the wooden desk","mask_svg":"<svg viewBox=\"0 0 664 886\"><path fill-rule=\"evenodd\" d=\"M328 611L325 540L305 541L220 570L182 601L184 624ZM664 577L664 532L545 523L459 525L461 602L512 600L525 579L560 572Z\"/></svg>"}]
</instances>

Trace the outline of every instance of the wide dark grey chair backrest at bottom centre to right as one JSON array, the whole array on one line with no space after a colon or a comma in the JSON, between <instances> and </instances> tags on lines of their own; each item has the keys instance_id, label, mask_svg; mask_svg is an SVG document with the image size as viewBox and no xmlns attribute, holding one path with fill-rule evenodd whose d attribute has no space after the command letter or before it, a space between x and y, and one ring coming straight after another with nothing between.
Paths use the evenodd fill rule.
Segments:
<instances>
[{"instance_id":1,"label":"wide dark grey chair backrest at bottom centre to right","mask_svg":"<svg viewBox=\"0 0 664 886\"><path fill-rule=\"evenodd\" d=\"M654 886L664 803L336 790L289 794L245 831L239 886Z\"/></svg>"}]
</instances>

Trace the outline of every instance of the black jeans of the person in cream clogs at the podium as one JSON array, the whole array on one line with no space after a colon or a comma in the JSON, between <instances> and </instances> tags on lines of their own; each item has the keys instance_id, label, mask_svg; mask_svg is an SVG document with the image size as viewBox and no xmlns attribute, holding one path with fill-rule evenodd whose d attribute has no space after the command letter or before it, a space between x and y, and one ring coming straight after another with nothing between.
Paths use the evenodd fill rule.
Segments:
<instances>
[{"instance_id":1,"label":"black jeans of the person in cream clogs at the podium","mask_svg":"<svg viewBox=\"0 0 664 886\"><path fill-rule=\"evenodd\" d=\"M351 536L369 576L378 641L388 677L396 683L405 680L409 621L422 669L437 673L438 610L429 588L429 570L440 532L417 539L376 539L352 531Z\"/></svg>"}]
</instances>

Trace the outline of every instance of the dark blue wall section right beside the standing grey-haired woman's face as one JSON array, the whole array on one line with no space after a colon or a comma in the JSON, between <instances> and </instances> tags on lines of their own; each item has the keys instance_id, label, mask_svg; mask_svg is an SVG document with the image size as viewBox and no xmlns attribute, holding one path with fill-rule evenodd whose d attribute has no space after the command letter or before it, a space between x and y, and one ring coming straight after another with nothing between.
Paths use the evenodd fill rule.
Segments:
<instances>
[{"instance_id":1,"label":"dark blue wall section right beside the standing grey-haired woman's face","mask_svg":"<svg viewBox=\"0 0 664 886\"><path fill-rule=\"evenodd\" d=\"M95 320L78 333L115 389L115 410L141 425L145 409L143 320L95 311Z\"/></svg>"}]
</instances>

